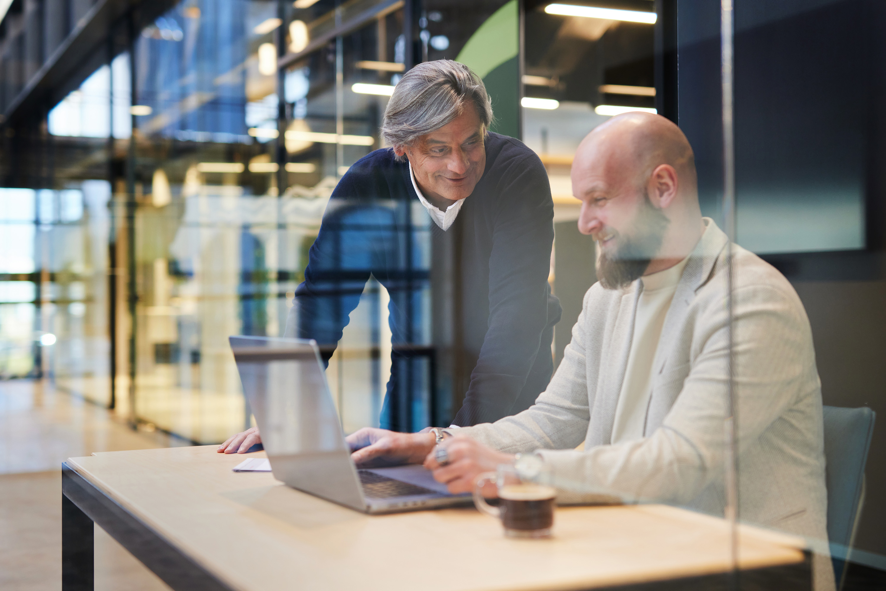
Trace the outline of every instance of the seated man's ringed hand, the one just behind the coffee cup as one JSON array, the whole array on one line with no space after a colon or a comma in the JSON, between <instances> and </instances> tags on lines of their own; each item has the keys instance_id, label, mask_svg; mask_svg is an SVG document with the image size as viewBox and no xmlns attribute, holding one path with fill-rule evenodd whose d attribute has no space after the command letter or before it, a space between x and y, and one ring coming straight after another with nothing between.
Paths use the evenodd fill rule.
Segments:
<instances>
[{"instance_id":1,"label":"seated man's ringed hand, the one just behind the coffee cup","mask_svg":"<svg viewBox=\"0 0 886 591\"><path fill-rule=\"evenodd\" d=\"M454 435L443 441L449 461L440 465L434 450L424 458L424 467L433 471L434 479L447 485L452 494L470 493L474 482L483 472L494 472L500 463L514 463L514 455L503 454L486 447L476 439ZM484 495L494 496L495 486L486 485Z\"/></svg>"}]
</instances>

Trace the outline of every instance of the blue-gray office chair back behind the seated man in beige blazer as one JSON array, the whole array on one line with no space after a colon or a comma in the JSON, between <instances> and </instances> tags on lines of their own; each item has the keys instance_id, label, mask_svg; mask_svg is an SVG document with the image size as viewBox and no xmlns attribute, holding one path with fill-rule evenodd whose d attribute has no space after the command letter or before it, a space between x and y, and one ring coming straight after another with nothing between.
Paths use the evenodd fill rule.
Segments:
<instances>
[{"instance_id":1,"label":"blue-gray office chair back behind the seated man in beige blazer","mask_svg":"<svg viewBox=\"0 0 886 591\"><path fill-rule=\"evenodd\" d=\"M837 589L843 587L865 503L865 463L874 418L874 411L867 407L824 408L828 540Z\"/></svg>"}]
</instances>

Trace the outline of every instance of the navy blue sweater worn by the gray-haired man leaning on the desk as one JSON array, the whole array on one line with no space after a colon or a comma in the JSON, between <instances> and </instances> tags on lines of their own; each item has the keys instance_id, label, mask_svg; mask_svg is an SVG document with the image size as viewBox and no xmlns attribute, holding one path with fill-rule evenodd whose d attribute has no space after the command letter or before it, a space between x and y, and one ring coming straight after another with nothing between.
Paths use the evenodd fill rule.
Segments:
<instances>
[{"instance_id":1,"label":"navy blue sweater worn by the gray-haired man leaning on the desk","mask_svg":"<svg viewBox=\"0 0 886 591\"><path fill-rule=\"evenodd\" d=\"M432 409L431 422L447 421L459 403L459 425L516 414L553 371L553 217L540 159L511 137L486 136L484 174L446 232L424 211L408 163L390 149L371 152L338 182L323 215L296 290L297 334L315 338L328 359L375 276L391 295L383 427L424 426L410 412L428 390L453 402Z\"/></svg>"}]
</instances>

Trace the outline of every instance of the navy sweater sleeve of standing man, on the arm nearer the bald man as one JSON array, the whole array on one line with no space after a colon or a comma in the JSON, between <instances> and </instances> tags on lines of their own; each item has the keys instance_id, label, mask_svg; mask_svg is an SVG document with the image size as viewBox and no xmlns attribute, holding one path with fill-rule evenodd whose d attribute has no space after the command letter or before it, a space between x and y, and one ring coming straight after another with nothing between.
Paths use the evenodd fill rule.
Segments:
<instances>
[{"instance_id":1,"label":"navy sweater sleeve of standing man, on the arm nearer the bald man","mask_svg":"<svg viewBox=\"0 0 886 591\"><path fill-rule=\"evenodd\" d=\"M510 414L548 325L548 273L554 204L548 174L534 154L508 159L495 201L489 257L489 324L454 424Z\"/></svg>"}]
</instances>

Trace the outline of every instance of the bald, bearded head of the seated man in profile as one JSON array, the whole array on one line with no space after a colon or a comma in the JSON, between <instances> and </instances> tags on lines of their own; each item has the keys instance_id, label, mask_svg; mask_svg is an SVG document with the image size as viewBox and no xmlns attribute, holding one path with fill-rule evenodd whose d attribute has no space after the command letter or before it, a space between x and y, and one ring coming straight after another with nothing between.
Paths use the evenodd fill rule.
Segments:
<instances>
[{"instance_id":1,"label":"bald, bearded head of the seated man in profile","mask_svg":"<svg viewBox=\"0 0 886 591\"><path fill-rule=\"evenodd\" d=\"M610 270L612 286L676 264L703 233L692 147L660 115L624 113L595 128L571 176L579 230L597 241L598 276Z\"/></svg>"}]
</instances>

